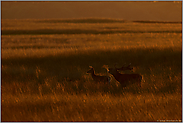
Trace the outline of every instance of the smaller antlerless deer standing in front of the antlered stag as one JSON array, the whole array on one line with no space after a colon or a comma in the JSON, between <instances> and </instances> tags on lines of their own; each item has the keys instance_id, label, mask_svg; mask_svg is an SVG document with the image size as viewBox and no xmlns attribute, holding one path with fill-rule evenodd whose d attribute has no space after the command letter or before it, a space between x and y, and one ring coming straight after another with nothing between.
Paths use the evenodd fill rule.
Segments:
<instances>
[{"instance_id":1,"label":"smaller antlerless deer standing in front of the antlered stag","mask_svg":"<svg viewBox=\"0 0 183 123\"><path fill-rule=\"evenodd\" d=\"M92 66L89 66L90 69L87 71L87 73L91 73L91 76L95 82L102 82L102 83L109 83L111 81L111 78L109 76L100 76L95 74L95 70Z\"/></svg>"}]
</instances>

